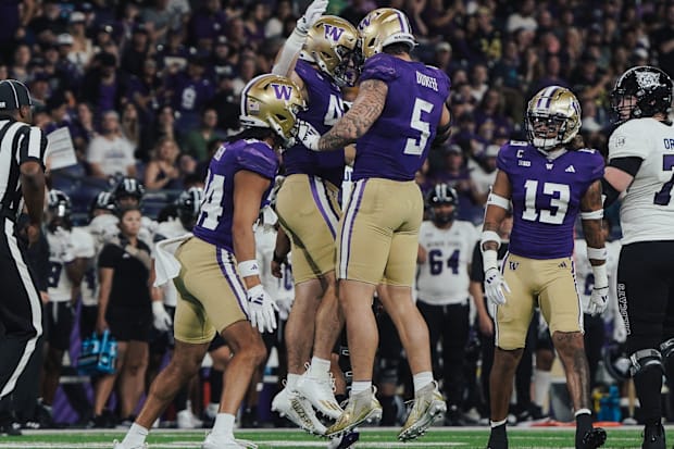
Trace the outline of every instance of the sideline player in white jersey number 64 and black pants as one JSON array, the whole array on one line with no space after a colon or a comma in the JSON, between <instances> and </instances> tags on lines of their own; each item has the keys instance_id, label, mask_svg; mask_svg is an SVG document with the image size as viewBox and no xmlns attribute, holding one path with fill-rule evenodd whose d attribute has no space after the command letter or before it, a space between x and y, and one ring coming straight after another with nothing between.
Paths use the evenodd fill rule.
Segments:
<instances>
[{"instance_id":1,"label":"sideline player in white jersey number 64 and black pants","mask_svg":"<svg viewBox=\"0 0 674 449\"><path fill-rule=\"evenodd\" d=\"M458 424L465 389L463 359L470 330L469 273L479 236L472 223L455 220L459 196L447 184L437 184L428 192L426 207L430 221L423 222L419 230L416 307L428 325L434 377L445 379L447 419ZM438 354L440 340L442 353Z\"/></svg>"}]
</instances>

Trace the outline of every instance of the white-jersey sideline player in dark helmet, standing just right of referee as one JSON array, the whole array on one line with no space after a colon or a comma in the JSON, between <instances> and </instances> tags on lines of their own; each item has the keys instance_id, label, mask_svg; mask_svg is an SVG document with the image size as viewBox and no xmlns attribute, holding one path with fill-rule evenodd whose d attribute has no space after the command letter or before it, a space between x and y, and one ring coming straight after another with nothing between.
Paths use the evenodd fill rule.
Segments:
<instances>
[{"instance_id":1,"label":"white-jersey sideline player in dark helmet, standing just right of referee","mask_svg":"<svg viewBox=\"0 0 674 449\"><path fill-rule=\"evenodd\" d=\"M49 302L46 304L45 376L42 404L51 410L63 362L70 349L79 284L95 255L93 239L71 222L71 199L61 190L50 190L48 199L47 240L49 242Z\"/></svg>"}]
</instances>

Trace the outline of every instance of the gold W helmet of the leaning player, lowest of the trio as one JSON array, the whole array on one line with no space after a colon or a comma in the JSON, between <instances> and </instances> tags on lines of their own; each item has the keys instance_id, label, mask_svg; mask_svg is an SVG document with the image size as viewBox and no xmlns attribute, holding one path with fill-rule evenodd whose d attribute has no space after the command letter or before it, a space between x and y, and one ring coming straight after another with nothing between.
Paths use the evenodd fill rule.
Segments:
<instances>
[{"instance_id":1,"label":"gold W helmet of the leaning player, lowest of the trio","mask_svg":"<svg viewBox=\"0 0 674 449\"><path fill-rule=\"evenodd\" d=\"M279 75L252 78L241 93L241 115L246 127L272 128L283 139L284 147L295 142L299 124L297 114L307 109L300 88Z\"/></svg>"}]
</instances>

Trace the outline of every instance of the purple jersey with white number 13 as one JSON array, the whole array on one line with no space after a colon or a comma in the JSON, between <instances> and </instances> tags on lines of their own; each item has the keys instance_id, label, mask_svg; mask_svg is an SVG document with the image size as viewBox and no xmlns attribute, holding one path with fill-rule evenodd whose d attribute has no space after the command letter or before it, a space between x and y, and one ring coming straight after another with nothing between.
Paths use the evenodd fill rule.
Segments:
<instances>
[{"instance_id":1,"label":"purple jersey with white number 13","mask_svg":"<svg viewBox=\"0 0 674 449\"><path fill-rule=\"evenodd\" d=\"M497 166L512 184L510 252L529 259L571 257L581 200L603 176L601 154L582 149L548 160L527 142L511 141L499 151Z\"/></svg>"}]
</instances>

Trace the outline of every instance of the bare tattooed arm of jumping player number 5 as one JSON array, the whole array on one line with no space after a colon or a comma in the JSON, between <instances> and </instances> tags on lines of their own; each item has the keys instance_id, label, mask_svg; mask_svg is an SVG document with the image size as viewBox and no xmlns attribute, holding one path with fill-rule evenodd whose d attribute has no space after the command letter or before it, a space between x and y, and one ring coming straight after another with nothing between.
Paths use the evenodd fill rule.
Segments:
<instances>
[{"instance_id":1,"label":"bare tattooed arm of jumping player number 5","mask_svg":"<svg viewBox=\"0 0 674 449\"><path fill-rule=\"evenodd\" d=\"M361 83L353 105L330 130L321 136L319 150L336 150L353 144L370 129L386 104L388 86L379 79Z\"/></svg>"}]
</instances>

